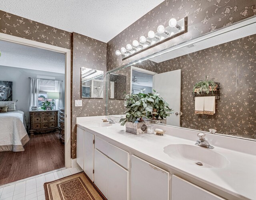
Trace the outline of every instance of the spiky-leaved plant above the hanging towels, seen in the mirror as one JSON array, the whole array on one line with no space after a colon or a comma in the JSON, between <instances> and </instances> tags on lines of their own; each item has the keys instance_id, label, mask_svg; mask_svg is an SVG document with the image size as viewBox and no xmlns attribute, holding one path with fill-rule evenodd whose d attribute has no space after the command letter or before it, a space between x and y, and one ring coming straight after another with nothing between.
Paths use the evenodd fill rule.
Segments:
<instances>
[{"instance_id":1,"label":"spiky-leaved plant above the hanging towels, seen in the mirror","mask_svg":"<svg viewBox=\"0 0 256 200\"><path fill-rule=\"evenodd\" d=\"M196 84L194 84L193 92L196 92L197 94L202 94L202 92L205 92L206 94L209 94L210 91L216 90L217 84L213 80L208 80L208 76L205 75L204 80L200 80Z\"/></svg>"}]
</instances>

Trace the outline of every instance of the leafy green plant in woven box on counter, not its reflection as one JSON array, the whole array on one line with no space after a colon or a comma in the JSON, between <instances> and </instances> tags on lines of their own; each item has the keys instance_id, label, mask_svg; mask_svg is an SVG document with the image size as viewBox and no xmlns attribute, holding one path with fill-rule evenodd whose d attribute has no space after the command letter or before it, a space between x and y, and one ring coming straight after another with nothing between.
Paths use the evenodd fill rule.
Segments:
<instances>
[{"instance_id":1,"label":"leafy green plant in woven box on counter, not its reflection","mask_svg":"<svg viewBox=\"0 0 256 200\"><path fill-rule=\"evenodd\" d=\"M173 110L159 95L158 93L126 95L124 102L126 118L120 119L121 125L126 126L126 132L138 135L146 133L148 124L161 122L166 124L165 118L170 116Z\"/></svg>"}]
</instances>

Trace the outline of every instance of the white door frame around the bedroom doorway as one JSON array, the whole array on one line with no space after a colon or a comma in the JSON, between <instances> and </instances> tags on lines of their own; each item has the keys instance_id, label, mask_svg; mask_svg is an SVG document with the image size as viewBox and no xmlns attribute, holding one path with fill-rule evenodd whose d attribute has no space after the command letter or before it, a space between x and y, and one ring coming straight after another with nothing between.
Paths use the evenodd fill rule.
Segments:
<instances>
[{"instance_id":1,"label":"white door frame around the bedroom doorway","mask_svg":"<svg viewBox=\"0 0 256 200\"><path fill-rule=\"evenodd\" d=\"M0 40L65 54L65 167L71 167L71 50L5 33Z\"/></svg>"}]
</instances>

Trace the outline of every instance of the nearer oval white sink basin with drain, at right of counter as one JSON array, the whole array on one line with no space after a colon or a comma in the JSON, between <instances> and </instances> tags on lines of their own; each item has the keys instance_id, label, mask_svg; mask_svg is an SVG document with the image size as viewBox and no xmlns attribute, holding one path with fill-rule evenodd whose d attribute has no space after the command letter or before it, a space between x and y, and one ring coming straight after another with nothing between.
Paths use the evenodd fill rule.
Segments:
<instances>
[{"instance_id":1,"label":"nearer oval white sink basin with drain, at right of counter","mask_svg":"<svg viewBox=\"0 0 256 200\"><path fill-rule=\"evenodd\" d=\"M164 153L171 158L204 168L223 168L229 164L223 155L205 147L174 144L164 147ZM196 164L197 163L197 164Z\"/></svg>"}]
</instances>

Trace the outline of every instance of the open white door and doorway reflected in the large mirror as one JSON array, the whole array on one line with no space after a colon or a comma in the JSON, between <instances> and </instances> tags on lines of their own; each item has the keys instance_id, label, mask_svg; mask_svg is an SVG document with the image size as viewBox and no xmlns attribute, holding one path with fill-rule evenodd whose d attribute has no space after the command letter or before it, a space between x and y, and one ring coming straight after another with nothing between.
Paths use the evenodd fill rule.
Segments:
<instances>
[{"instance_id":1,"label":"open white door and doorway reflected in the large mirror","mask_svg":"<svg viewBox=\"0 0 256 200\"><path fill-rule=\"evenodd\" d=\"M174 114L166 118L167 125L180 126L181 70L157 74L131 67L131 94L153 92L153 89L170 105Z\"/></svg>"}]
</instances>

